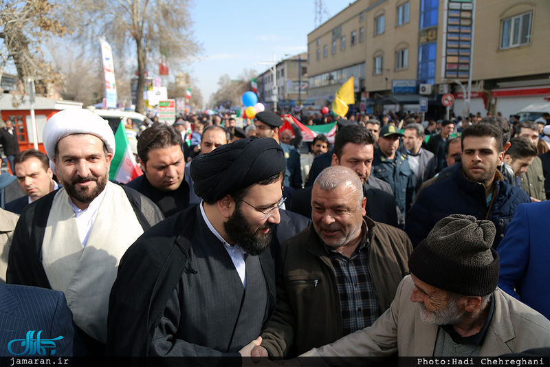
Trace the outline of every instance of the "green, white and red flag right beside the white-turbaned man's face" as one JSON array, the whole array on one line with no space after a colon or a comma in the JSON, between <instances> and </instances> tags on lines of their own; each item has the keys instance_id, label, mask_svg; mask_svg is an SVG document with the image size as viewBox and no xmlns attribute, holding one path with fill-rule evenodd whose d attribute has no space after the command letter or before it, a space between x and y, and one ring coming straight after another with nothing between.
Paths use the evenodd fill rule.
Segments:
<instances>
[{"instance_id":1,"label":"green, white and red flag right beside the white-turbaned man's face","mask_svg":"<svg viewBox=\"0 0 550 367\"><path fill-rule=\"evenodd\" d=\"M143 171L133 156L132 149L126 137L126 129L122 121L115 132L115 155L111 160L111 169L109 170L109 179L120 183L128 183L135 177L143 175Z\"/></svg>"}]
</instances>

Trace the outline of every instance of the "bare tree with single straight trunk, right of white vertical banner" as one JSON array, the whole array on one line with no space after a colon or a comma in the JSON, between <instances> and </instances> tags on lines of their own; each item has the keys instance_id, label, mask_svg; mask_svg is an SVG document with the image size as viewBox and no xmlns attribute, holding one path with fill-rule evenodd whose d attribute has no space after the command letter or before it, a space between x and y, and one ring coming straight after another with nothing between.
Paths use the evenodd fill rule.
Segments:
<instances>
[{"instance_id":1,"label":"bare tree with single straight trunk, right of white vertical banner","mask_svg":"<svg viewBox=\"0 0 550 367\"><path fill-rule=\"evenodd\" d=\"M91 41L103 35L113 50L137 60L137 112L144 112L140 91L149 61L162 55L175 67L199 51L190 30L187 0L73 0L71 4L72 12L65 19L67 24L71 20L80 38ZM83 19L87 19L84 24Z\"/></svg>"}]
</instances>

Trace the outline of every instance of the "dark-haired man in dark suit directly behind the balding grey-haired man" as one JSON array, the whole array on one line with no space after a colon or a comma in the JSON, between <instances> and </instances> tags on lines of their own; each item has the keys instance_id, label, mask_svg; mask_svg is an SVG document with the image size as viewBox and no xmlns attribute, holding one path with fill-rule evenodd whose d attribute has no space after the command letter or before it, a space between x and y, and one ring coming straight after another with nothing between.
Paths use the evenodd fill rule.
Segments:
<instances>
[{"instance_id":1,"label":"dark-haired man in dark suit directly behind the balding grey-haired man","mask_svg":"<svg viewBox=\"0 0 550 367\"><path fill-rule=\"evenodd\" d=\"M344 126L334 141L331 166L345 166L357 173L363 184L367 216L373 221L399 227L400 210L393 194L386 191L391 192L391 188L380 189L382 185L389 184L371 176L374 142L374 135L363 126ZM311 218L311 191L311 186L296 190L289 210Z\"/></svg>"}]
</instances>

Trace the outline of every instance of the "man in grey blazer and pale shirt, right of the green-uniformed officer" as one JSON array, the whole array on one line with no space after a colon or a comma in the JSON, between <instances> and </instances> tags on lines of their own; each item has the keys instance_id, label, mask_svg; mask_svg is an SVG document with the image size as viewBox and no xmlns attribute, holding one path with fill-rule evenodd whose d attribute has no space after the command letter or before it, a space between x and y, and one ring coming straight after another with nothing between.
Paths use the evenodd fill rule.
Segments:
<instances>
[{"instance_id":1,"label":"man in grey blazer and pale shirt, right of the green-uniformed officer","mask_svg":"<svg viewBox=\"0 0 550 367\"><path fill-rule=\"evenodd\" d=\"M415 173L415 191L421 184L435 175L434 153L423 149L424 128L421 124L413 123L405 126L403 144L408 156L408 165Z\"/></svg>"}]
</instances>

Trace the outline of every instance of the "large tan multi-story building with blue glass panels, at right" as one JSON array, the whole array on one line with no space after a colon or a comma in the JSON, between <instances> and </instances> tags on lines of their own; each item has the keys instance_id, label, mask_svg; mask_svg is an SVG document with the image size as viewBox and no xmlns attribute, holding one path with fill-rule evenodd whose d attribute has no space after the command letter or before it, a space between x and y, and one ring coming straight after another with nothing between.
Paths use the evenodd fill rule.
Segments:
<instances>
[{"instance_id":1,"label":"large tan multi-story building with blue glass panels, at right","mask_svg":"<svg viewBox=\"0 0 550 367\"><path fill-rule=\"evenodd\" d=\"M354 76L355 111L382 106L505 117L550 94L547 0L358 0L308 34L307 104L331 102ZM352 109L353 111L353 109Z\"/></svg>"}]
</instances>

